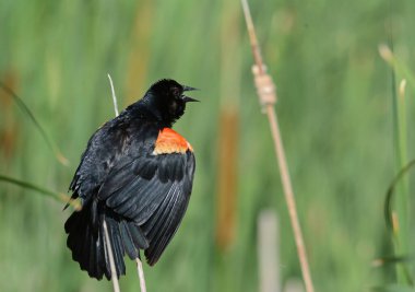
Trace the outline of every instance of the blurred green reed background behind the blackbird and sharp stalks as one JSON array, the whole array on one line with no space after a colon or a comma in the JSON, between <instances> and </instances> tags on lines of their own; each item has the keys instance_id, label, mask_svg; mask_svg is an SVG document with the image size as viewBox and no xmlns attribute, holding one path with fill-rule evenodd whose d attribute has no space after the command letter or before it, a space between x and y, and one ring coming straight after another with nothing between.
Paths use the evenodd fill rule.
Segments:
<instances>
[{"instance_id":1,"label":"blurred green reed background behind the blackbird and sharp stalks","mask_svg":"<svg viewBox=\"0 0 415 292\"><path fill-rule=\"evenodd\" d=\"M372 266L393 253L383 199L398 171L391 68L378 46L392 35L396 56L414 68L415 1L250 4L277 84L316 291L395 282L393 268ZM300 278L239 1L1 0L0 37L0 79L70 161L58 163L1 92L0 174L64 192L88 137L114 117L107 73L120 108L152 82L176 79L201 89L193 96L202 103L176 125L192 143L198 167L179 232L159 262L144 267L147 290L259 291L257 218L264 208L278 213L283 282ZM408 145L412 85L404 108ZM221 183L221 176L230 178ZM70 211L62 207L0 183L0 291L111 291L71 260L63 232ZM133 262L120 283L121 291L139 291Z\"/></svg>"}]
</instances>

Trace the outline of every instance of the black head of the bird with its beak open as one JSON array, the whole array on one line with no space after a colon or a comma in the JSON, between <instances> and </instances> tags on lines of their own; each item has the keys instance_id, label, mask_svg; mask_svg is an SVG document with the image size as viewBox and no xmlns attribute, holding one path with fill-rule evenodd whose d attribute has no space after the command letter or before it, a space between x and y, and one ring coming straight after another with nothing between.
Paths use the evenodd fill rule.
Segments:
<instances>
[{"instance_id":1,"label":"black head of the bird with its beak open","mask_svg":"<svg viewBox=\"0 0 415 292\"><path fill-rule=\"evenodd\" d=\"M175 80L163 79L149 89L144 102L158 119L171 125L185 114L187 103L199 102L185 95L185 92L193 90L195 89L181 85Z\"/></svg>"}]
</instances>

